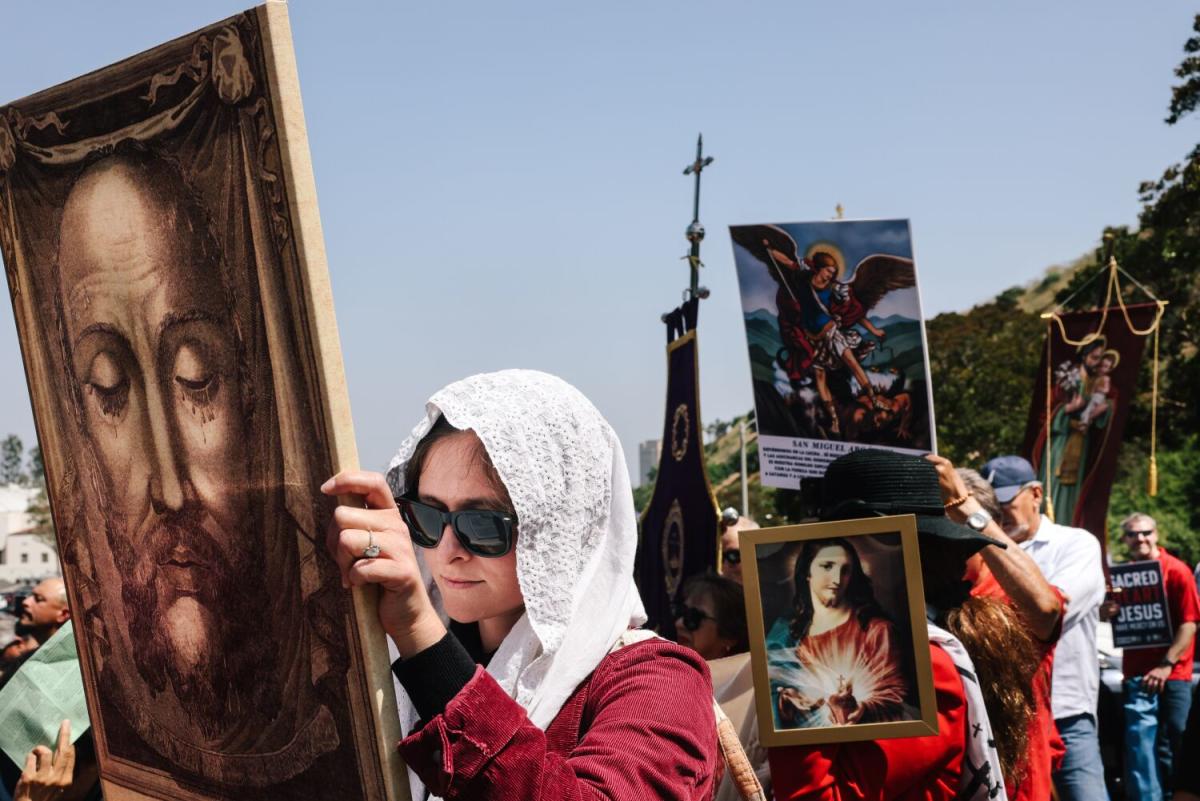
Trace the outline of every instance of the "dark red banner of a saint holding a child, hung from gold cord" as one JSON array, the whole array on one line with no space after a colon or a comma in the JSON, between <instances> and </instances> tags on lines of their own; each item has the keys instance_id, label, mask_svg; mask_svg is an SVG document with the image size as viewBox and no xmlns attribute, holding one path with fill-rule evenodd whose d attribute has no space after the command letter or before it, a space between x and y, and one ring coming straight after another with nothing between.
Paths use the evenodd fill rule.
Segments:
<instances>
[{"instance_id":1,"label":"dark red banner of a saint holding a child, hung from gold cord","mask_svg":"<svg viewBox=\"0 0 1200 801\"><path fill-rule=\"evenodd\" d=\"M1138 381L1146 342L1140 331L1153 329L1158 308L1140 303L1124 313L1114 307L1051 317L1033 381L1024 456L1044 484L1054 520L1091 531L1102 548L1126 418L1134 397L1151 389Z\"/></svg>"}]
</instances>

